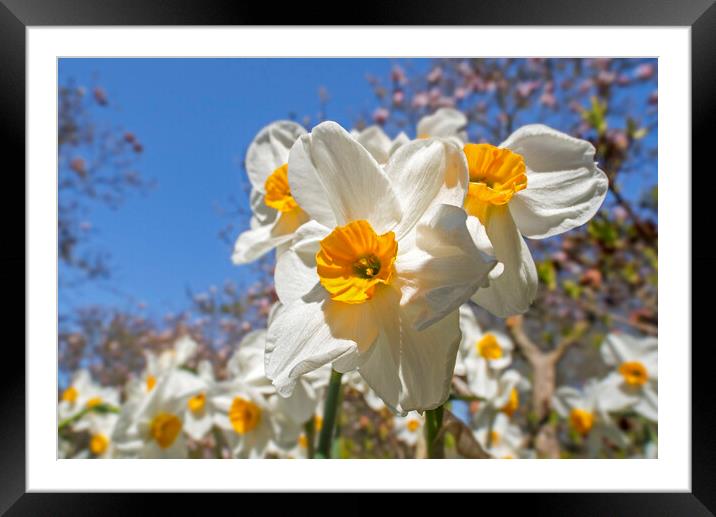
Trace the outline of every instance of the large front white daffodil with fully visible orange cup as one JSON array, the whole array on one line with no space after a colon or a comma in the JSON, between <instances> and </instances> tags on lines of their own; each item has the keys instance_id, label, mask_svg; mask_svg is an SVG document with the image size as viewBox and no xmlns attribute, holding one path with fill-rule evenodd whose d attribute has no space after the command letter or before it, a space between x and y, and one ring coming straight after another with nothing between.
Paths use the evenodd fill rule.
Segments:
<instances>
[{"instance_id":1,"label":"large front white daffodil with fully visible orange cup","mask_svg":"<svg viewBox=\"0 0 716 517\"><path fill-rule=\"evenodd\" d=\"M324 122L296 142L289 168L312 220L277 261L282 307L267 335L268 377L287 396L332 363L358 368L396 412L439 406L460 341L457 309L496 265L465 226L464 155L416 140L383 168Z\"/></svg>"}]
</instances>

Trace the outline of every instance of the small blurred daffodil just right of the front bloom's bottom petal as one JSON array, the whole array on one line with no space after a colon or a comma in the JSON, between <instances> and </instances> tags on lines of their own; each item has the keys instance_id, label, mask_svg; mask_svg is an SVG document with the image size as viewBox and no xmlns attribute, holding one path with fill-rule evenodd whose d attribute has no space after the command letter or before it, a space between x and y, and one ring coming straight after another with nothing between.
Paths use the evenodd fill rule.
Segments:
<instances>
[{"instance_id":1,"label":"small blurred daffodil just right of the front bloom's bottom petal","mask_svg":"<svg viewBox=\"0 0 716 517\"><path fill-rule=\"evenodd\" d=\"M512 340L499 330L483 332L467 304L460 307L460 330L455 373L467 377L470 390L478 397L494 397L499 372L512 363Z\"/></svg>"}]
</instances>

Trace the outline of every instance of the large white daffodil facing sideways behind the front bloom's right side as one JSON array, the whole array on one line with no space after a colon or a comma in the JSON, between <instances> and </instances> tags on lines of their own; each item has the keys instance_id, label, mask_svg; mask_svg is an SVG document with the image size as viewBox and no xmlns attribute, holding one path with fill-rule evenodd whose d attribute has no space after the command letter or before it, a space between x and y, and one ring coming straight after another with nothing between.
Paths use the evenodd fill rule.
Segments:
<instances>
[{"instance_id":1,"label":"large white daffodil facing sideways behind the front bloom's right side","mask_svg":"<svg viewBox=\"0 0 716 517\"><path fill-rule=\"evenodd\" d=\"M472 300L499 317L523 313L537 294L537 269L523 236L545 239L586 223L609 181L594 162L592 144L539 124L518 129L499 147L466 144L464 151L468 226L476 242L484 241L486 229L504 266Z\"/></svg>"}]
</instances>

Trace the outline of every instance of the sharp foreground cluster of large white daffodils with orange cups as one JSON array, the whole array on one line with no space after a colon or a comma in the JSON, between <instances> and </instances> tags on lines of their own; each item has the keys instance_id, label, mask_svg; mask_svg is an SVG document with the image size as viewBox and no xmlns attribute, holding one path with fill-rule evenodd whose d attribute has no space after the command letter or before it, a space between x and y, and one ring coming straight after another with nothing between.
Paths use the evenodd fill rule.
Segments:
<instances>
[{"instance_id":1,"label":"sharp foreground cluster of large white daffodils with orange cups","mask_svg":"<svg viewBox=\"0 0 716 517\"><path fill-rule=\"evenodd\" d=\"M523 236L565 232L601 206L608 180L589 142L529 125L499 146L470 143L466 125L461 112L441 109L410 140L378 127L323 122L307 133L280 121L252 142L254 215L233 260L276 248L280 303L266 375L279 395L331 365L357 371L399 415L440 406L460 306L526 311L537 272ZM480 390L494 389L482 377Z\"/></svg>"}]
</instances>

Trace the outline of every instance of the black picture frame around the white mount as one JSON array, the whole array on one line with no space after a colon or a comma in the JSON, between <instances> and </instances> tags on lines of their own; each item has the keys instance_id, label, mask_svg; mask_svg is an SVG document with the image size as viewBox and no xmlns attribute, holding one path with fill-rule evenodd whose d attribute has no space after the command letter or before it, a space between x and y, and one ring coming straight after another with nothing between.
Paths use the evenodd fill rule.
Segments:
<instances>
[{"instance_id":1,"label":"black picture frame around the white mount","mask_svg":"<svg viewBox=\"0 0 716 517\"><path fill-rule=\"evenodd\" d=\"M15 334L25 304L24 278L18 274L26 264L25 226L16 223L24 213L25 196L25 29L28 26L62 25L295 25L299 21L339 25L618 25L688 26L691 28L692 72L692 275L699 291L708 295L716 288L713 271L716 251L709 244L709 215L713 201L709 194L716 184L710 137L716 113L716 5L714 0L429 0L411 9L398 2L361 2L348 17L334 16L335 4L313 2L283 3L280 13L260 2L210 0L0 0L0 113L2 113L2 149L6 182L11 188L0 208L6 225L5 253L0 255L0 278L7 293L23 293L11 299L5 311L6 329ZM273 9L275 11L275 9ZM321 14L323 13L323 14ZM310 19L309 19L310 16ZM342 22L341 22L342 19ZM668 142L660 142L668 145ZM8 160L11 158L11 160ZM665 173L666 171L661 171ZM687 171L680 171L685 177ZM7 185L7 183L6 183ZM693 186L698 185L698 188ZM13 187L15 187L13 185ZM662 214L668 217L668 214ZM20 244L22 243L22 244ZM27 275L28 272L25 272ZM691 282L687 276L686 281ZM21 283L23 283L21 288ZM695 291L693 295L695 295ZM692 296L693 296L692 295ZM8 299L10 299L8 297ZM692 300L693 330L707 327L712 303ZM24 342L25 327L22 334ZM525 504L531 514L550 515L713 515L716 513L716 419L714 419L714 363L710 354L712 340L697 340L693 334L692 353L692 458L690 493L643 494L530 494L512 497L512 503ZM19 336L6 338L6 365L25 364ZM689 343L669 343L665 346ZM25 369L9 370L0 375L0 512L7 515L104 515L144 513L146 504L138 498L120 494L41 494L25 489ZM483 496L481 496L483 497ZM162 505L192 506L185 497L163 497ZM421 498L405 501L420 504ZM483 499L485 501L485 499ZM484 503L483 503L484 504ZM479 510L481 505L476 506ZM164 510L169 510L169 506Z\"/></svg>"}]
</instances>

